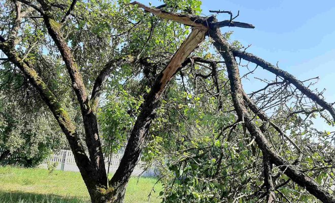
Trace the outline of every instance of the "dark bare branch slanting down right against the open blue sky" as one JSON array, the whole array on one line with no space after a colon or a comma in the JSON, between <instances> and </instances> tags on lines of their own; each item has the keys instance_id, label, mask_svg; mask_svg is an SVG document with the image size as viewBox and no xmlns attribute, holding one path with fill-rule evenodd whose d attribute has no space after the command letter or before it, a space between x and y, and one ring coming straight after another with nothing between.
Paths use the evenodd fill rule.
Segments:
<instances>
[{"instance_id":1,"label":"dark bare branch slanting down right against the open blue sky","mask_svg":"<svg viewBox=\"0 0 335 203\"><path fill-rule=\"evenodd\" d=\"M286 81L293 84L296 88L298 88L303 94L308 96L310 99L315 101L318 105L322 108L326 109L335 120L335 109L331 106L331 104L327 103L324 99L320 98L317 94L312 92L309 88L307 88L302 82L296 79L293 75L289 74L286 71L279 69L278 67L272 65L269 62L247 52L239 51L239 50L232 50L233 54L237 57L243 58L244 60L253 62L263 69L270 71L271 73L284 78Z\"/></svg>"}]
</instances>

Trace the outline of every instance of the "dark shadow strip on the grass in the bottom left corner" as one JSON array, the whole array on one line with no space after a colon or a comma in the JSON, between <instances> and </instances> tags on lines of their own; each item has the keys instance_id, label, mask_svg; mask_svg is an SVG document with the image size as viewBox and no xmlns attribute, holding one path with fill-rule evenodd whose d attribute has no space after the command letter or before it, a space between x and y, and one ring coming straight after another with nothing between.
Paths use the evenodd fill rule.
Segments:
<instances>
[{"instance_id":1,"label":"dark shadow strip on the grass in the bottom left corner","mask_svg":"<svg viewBox=\"0 0 335 203\"><path fill-rule=\"evenodd\" d=\"M88 203L88 200L78 197L60 196L56 194L38 194L22 191L0 190L1 203Z\"/></svg>"}]
</instances>

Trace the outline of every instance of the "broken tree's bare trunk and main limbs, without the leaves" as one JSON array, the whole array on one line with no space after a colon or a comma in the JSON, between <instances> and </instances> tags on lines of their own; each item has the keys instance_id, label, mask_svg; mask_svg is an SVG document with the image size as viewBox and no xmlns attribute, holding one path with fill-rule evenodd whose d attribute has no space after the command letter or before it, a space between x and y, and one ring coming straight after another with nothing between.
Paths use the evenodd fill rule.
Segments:
<instances>
[{"instance_id":1,"label":"broken tree's bare trunk and main limbs, without the leaves","mask_svg":"<svg viewBox=\"0 0 335 203\"><path fill-rule=\"evenodd\" d=\"M141 107L141 112L137 116L135 125L132 127L120 165L114 176L108 180L104 161L105 157L99 137L97 121L98 103L100 97L103 95L104 85L112 70L123 64L137 63L139 62L138 58L137 56L116 57L109 61L98 74L94 81L91 94L89 94L85 83L83 82L84 80L78 61L76 61L73 51L69 47L69 43L65 40L62 30L62 25L72 15L72 11L75 9L77 1L73 1L72 4L68 6L58 5L61 9L66 10L65 16L63 16L59 22L56 21L57 18L53 15L53 4L42 0L37 2L39 4L33 4L24 0L15 2L17 8L15 23L13 24L12 31L7 39L0 36L0 49L6 54L8 60L18 67L21 73L29 80L29 83L36 88L50 111L53 113L65 134L66 139L69 141L92 202L123 202L127 183L140 158L141 151L148 140L148 131L155 117L155 111L160 105L162 94L176 73L186 64L194 62L195 58L189 58L189 55L205 40L205 37L209 37L213 40L213 45L224 59L230 83L232 102L235 107L234 111L239 118L239 123L242 123L248 130L258 148L262 151L264 167L263 175L267 201L272 202L276 200L276 194L274 192L275 185L273 181L274 177L271 175L273 165L275 165L292 181L300 187L306 188L312 195L320 199L322 202L335 202L335 198L326 188L320 186L311 177L305 174L304 171L300 171L296 166L297 163L291 164L288 160L285 160L284 157L276 152L274 146L272 146L264 136L266 131L264 126L266 123L270 123L270 125L276 129L277 133L281 134L283 137L286 135L285 132L273 123L244 92L236 57L255 63L261 66L264 70L270 71L278 77L282 77L285 81L294 85L305 96L312 99L318 106L327 110L334 119L335 111L332 108L332 105L326 103L326 101L319 95L313 93L289 73L280 70L278 67L275 67L252 54L233 48L222 36L220 28L227 26L254 28L254 26L248 23L233 21L235 18L232 18L230 12L225 12L230 14L230 20L217 22L215 16L199 17L191 14L171 13L157 8L149 8L138 2L133 2L131 5L137 5L146 12L150 12L159 18L172 20L190 26L192 31L168 62L168 65L166 65L158 74L151 85L150 92L146 95ZM17 43L16 38L20 28L19 25L23 16L23 12L21 12L21 4L25 4L29 8L25 13L35 11L39 14L36 18L41 18L43 20L50 38L61 54L62 61L70 76L71 85L80 107L88 155L85 152L84 144L79 137L74 121L64 110L64 107L61 105L53 91L43 81L42 77L38 75L34 65L15 49ZM200 62L202 60L204 59L199 59ZM215 64L213 61L209 61L209 63ZM257 115L264 125L259 127L255 123L253 114ZM294 142L292 142L289 137L286 136L286 139L292 143L297 152L300 152L299 147L294 145ZM297 162L298 161L299 158L297 159Z\"/></svg>"}]
</instances>

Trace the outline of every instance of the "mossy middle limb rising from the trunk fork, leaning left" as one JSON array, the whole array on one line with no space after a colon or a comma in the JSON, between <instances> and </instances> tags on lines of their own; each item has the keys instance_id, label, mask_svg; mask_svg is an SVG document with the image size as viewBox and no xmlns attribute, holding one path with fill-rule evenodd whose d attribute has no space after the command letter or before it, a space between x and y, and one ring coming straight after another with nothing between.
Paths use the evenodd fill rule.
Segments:
<instances>
[{"instance_id":1,"label":"mossy middle limb rising from the trunk fork, leaning left","mask_svg":"<svg viewBox=\"0 0 335 203\"><path fill-rule=\"evenodd\" d=\"M62 37L61 24L47 15L44 15L43 19L49 35L55 42L66 65L66 69L68 69L72 87L77 95L77 100L79 101L85 128L85 142L92 166L96 172L94 174L95 176L91 178L96 179L99 184L107 187L108 178L106 174L104 154L99 138L97 118L95 111L90 108L86 87L79 71L79 67L74 60L70 47Z\"/></svg>"}]
</instances>

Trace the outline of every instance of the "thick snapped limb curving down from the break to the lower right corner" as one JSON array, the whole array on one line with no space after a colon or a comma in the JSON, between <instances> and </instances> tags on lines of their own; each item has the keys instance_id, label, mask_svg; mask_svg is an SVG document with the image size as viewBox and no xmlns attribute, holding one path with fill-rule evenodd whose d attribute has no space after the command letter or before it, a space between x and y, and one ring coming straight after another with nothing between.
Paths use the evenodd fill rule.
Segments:
<instances>
[{"instance_id":1,"label":"thick snapped limb curving down from the break to the lower right corner","mask_svg":"<svg viewBox=\"0 0 335 203\"><path fill-rule=\"evenodd\" d=\"M335 202L335 198L325 188L321 187L312 178L305 175L303 172L297 170L297 168L294 166L288 164L286 160L284 160L279 154L276 153L271 144L267 141L259 127L254 123L253 117L249 114L244 105L243 89L238 69L239 66L232 51L230 50L230 45L223 38L220 29L211 29L209 32L210 36L214 40L214 46L224 58L235 110L239 116L239 119L244 121L245 126L247 127L251 136L255 139L258 147L263 151L264 154L269 154L271 161L300 187L306 188L311 194L324 203Z\"/></svg>"}]
</instances>

